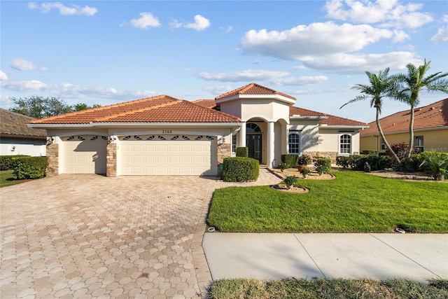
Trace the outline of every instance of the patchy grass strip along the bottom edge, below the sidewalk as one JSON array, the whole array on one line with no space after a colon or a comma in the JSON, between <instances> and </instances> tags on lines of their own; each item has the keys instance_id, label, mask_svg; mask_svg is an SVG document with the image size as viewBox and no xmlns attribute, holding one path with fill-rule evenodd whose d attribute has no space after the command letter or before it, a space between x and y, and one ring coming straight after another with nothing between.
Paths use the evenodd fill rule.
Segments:
<instances>
[{"instance_id":1,"label":"patchy grass strip along the bottom edge, below the sidewalk","mask_svg":"<svg viewBox=\"0 0 448 299\"><path fill-rule=\"evenodd\" d=\"M403 279L221 279L209 288L209 299L277 298L448 298L448 280L437 279L421 284Z\"/></svg>"}]
</instances>

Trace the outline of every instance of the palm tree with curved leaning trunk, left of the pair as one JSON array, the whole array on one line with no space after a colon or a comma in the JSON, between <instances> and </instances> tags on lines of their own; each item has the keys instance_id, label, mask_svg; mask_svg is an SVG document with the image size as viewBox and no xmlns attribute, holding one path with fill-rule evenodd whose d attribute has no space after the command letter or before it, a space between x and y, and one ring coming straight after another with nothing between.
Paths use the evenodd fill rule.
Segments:
<instances>
[{"instance_id":1,"label":"palm tree with curved leaning trunk, left of the pair","mask_svg":"<svg viewBox=\"0 0 448 299\"><path fill-rule=\"evenodd\" d=\"M386 137L384 137L383 130L381 129L381 125L379 125L379 115L381 114L383 97L391 97L391 95L396 94L395 78L388 76L388 73L389 68L384 69L384 71L379 71L378 75L366 71L365 74L369 78L370 85L356 84L351 88L353 90L360 90L360 93L362 93L363 95L358 95L354 99L351 99L349 102L346 102L344 105L342 105L339 109L344 107L346 104L370 99L370 107L374 107L377 110L378 132L381 135L381 138L384 140L384 144L386 144L387 149L391 152L395 161L398 162L398 165L400 165L400 158L398 158L398 156L392 150L391 146L388 144Z\"/></svg>"}]
</instances>

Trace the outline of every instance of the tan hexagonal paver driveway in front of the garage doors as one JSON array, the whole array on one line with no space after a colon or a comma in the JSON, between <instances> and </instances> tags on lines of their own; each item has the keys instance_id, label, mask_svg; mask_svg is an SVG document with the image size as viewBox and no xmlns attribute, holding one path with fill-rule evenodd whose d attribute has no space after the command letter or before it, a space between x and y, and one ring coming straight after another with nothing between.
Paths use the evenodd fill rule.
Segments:
<instances>
[{"instance_id":1,"label":"tan hexagonal paver driveway in front of the garage doors","mask_svg":"<svg viewBox=\"0 0 448 299\"><path fill-rule=\"evenodd\" d=\"M211 279L201 242L215 186L59 175L1 188L0 297L199 298Z\"/></svg>"}]
</instances>

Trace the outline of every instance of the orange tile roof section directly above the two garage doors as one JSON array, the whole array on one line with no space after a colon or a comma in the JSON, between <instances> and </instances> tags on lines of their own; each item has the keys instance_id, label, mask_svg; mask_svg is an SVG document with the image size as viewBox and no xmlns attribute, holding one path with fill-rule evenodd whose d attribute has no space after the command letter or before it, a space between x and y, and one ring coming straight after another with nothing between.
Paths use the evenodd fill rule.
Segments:
<instances>
[{"instance_id":1,"label":"orange tile roof section directly above the two garage doors","mask_svg":"<svg viewBox=\"0 0 448 299\"><path fill-rule=\"evenodd\" d=\"M33 120L34 124L237 123L239 118L167 95Z\"/></svg>"}]
</instances>

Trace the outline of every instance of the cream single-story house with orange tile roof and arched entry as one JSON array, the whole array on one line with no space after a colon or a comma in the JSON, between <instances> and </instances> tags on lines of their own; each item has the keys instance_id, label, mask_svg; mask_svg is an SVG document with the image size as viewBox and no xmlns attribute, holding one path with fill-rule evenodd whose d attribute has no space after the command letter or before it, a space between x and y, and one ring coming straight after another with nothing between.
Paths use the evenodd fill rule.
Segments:
<instances>
[{"instance_id":1,"label":"cream single-story house with orange tile roof and arched entry","mask_svg":"<svg viewBox=\"0 0 448 299\"><path fill-rule=\"evenodd\" d=\"M48 174L216 176L247 146L268 167L281 154L359 152L367 124L293 106L295 97L251 83L215 99L159 95L31 121L49 137Z\"/></svg>"}]
</instances>

